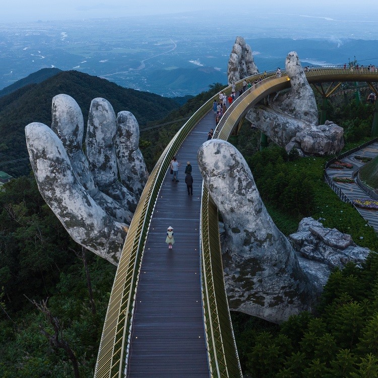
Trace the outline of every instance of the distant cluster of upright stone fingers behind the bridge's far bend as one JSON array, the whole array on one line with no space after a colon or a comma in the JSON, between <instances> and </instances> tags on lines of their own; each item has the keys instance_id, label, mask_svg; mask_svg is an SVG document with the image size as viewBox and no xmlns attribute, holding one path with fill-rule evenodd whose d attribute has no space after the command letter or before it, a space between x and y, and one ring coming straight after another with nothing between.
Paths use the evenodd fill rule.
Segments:
<instances>
[{"instance_id":1,"label":"distant cluster of upright stone fingers behind the bridge's far bend","mask_svg":"<svg viewBox=\"0 0 378 378\"><path fill-rule=\"evenodd\" d=\"M245 43L244 38L236 37L228 60L227 78L228 85L236 83L250 75L259 72L255 65L252 49Z\"/></svg>"}]
</instances>

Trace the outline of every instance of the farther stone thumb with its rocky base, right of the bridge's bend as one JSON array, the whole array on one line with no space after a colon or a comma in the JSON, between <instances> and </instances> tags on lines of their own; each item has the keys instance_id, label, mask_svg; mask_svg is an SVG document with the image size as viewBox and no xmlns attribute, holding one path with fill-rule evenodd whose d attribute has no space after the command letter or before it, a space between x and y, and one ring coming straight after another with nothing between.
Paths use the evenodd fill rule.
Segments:
<instances>
[{"instance_id":1,"label":"farther stone thumb with its rocky base, right of the bridge's bend","mask_svg":"<svg viewBox=\"0 0 378 378\"><path fill-rule=\"evenodd\" d=\"M246 118L287 152L296 148L305 155L337 154L344 147L344 130L331 121L318 125L315 97L296 52L287 55L285 68L291 90L268 106L256 105Z\"/></svg>"}]
</instances>

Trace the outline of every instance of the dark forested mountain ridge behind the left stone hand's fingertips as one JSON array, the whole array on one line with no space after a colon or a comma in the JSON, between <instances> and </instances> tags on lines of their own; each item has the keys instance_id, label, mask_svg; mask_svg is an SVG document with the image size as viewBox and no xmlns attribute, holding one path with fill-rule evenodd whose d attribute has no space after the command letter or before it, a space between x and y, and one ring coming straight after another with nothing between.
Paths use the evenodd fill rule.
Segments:
<instances>
[{"instance_id":1,"label":"dark forested mountain ridge behind the left stone hand's fingertips","mask_svg":"<svg viewBox=\"0 0 378 378\"><path fill-rule=\"evenodd\" d=\"M78 71L65 71L39 84L29 84L0 98L0 164L27 158L25 126L30 122L51 124L51 100L60 93L72 96L79 104L87 123L93 98L108 100L115 113L131 111L141 127L147 122L161 119L179 104L170 98L153 93L120 87L105 79ZM0 169L18 177L30 172L29 161L0 165Z\"/></svg>"}]
</instances>

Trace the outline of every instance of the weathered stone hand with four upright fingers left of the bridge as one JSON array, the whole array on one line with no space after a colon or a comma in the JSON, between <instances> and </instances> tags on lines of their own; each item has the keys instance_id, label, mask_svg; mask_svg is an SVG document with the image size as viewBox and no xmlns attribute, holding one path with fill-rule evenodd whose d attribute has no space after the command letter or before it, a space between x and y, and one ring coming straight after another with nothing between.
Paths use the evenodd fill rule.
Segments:
<instances>
[{"instance_id":1,"label":"weathered stone hand with four upright fingers left of the bridge","mask_svg":"<svg viewBox=\"0 0 378 378\"><path fill-rule=\"evenodd\" d=\"M51 129L33 122L25 134L48 206L76 242L117 264L148 178L134 115L121 111L116 117L108 101L92 100L84 155L82 112L72 97L61 94L52 100Z\"/></svg>"}]
</instances>

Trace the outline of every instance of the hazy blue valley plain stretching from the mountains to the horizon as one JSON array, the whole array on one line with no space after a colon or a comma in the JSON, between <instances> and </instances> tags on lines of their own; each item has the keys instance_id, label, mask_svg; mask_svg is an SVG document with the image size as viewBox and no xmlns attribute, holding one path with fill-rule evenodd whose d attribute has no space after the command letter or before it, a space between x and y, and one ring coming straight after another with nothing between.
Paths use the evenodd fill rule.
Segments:
<instances>
[{"instance_id":1,"label":"hazy blue valley plain stretching from the mountains to the horizon","mask_svg":"<svg viewBox=\"0 0 378 378\"><path fill-rule=\"evenodd\" d=\"M289 51L303 65L378 66L375 18L193 13L143 18L0 24L0 90L42 68L77 70L167 97L226 83L228 57L241 35L260 71L284 67Z\"/></svg>"}]
</instances>

